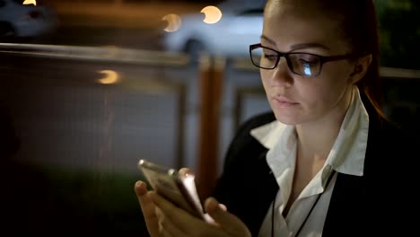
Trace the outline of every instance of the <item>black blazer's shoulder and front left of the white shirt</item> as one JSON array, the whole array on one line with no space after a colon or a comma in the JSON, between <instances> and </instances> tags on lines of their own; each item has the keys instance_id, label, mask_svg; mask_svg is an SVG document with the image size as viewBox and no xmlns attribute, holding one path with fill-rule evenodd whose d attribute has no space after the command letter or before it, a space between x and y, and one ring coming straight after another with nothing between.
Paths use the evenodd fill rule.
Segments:
<instances>
[{"instance_id":1,"label":"black blazer's shoulder and front left of the white shirt","mask_svg":"<svg viewBox=\"0 0 420 237\"><path fill-rule=\"evenodd\" d=\"M251 136L250 131L274 120L274 113L266 112L238 127L214 189L214 198L228 206L228 210L247 225L252 236L257 236L278 186L265 159L267 148Z\"/></svg>"}]
</instances>

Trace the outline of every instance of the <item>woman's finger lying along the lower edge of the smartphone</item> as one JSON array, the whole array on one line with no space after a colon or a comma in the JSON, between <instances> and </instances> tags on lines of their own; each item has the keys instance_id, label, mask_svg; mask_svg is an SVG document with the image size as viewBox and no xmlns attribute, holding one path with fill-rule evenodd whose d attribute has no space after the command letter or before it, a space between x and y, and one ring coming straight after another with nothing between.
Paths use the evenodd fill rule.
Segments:
<instances>
[{"instance_id":1,"label":"woman's finger lying along the lower edge of the smartphone","mask_svg":"<svg viewBox=\"0 0 420 237\"><path fill-rule=\"evenodd\" d=\"M199 229L197 226L200 224L203 226L203 224L205 224L202 220L190 215L187 211L179 208L178 206L174 206L170 201L162 198L162 196L156 194L155 192L150 192L149 195L153 199L153 203L162 210L165 217L168 218L171 223L177 226L182 232L194 232L194 230ZM191 226L194 226L194 228L191 228ZM193 236L195 235L193 234Z\"/></svg>"}]
</instances>

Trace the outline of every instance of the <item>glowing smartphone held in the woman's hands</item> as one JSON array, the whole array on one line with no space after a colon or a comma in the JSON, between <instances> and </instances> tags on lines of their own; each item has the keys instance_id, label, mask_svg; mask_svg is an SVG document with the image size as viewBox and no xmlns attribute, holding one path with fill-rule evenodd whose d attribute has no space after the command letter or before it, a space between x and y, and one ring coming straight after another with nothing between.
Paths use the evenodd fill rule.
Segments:
<instances>
[{"instance_id":1,"label":"glowing smartphone held in the woman's hands","mask_svg":"<svg viewBox=\"0 0 420 237\"><path fill-rule=\"evenodd\" d=\"M191 215L206 219L198 197L194 174L183 174L175 169L163 167L144 159L138 162L138 169L144 173L149 184L162 197L188 211Z\"/></svg>"}]
</instances>

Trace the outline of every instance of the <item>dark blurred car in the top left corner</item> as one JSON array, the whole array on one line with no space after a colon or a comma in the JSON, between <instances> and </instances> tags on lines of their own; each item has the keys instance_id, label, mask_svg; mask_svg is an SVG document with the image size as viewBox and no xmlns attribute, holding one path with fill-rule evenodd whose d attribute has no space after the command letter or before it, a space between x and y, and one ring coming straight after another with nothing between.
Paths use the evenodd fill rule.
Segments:
<instances>
[{"instance_id":1,"label":"dark blurred car in the top left corner","mask_svg":"<svg viewBox=\"0 0 420 237\"><path fill-rule=\"evenodd\" d=\"M57 13L45 5L0 0L0 37L37 37L54 31Z\"/></svg>"}]
</instances>

